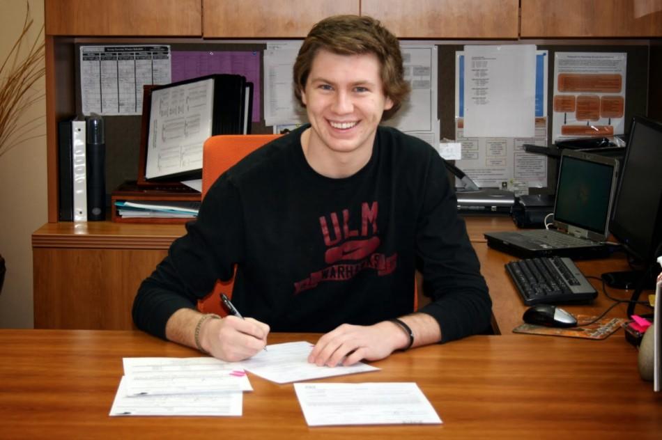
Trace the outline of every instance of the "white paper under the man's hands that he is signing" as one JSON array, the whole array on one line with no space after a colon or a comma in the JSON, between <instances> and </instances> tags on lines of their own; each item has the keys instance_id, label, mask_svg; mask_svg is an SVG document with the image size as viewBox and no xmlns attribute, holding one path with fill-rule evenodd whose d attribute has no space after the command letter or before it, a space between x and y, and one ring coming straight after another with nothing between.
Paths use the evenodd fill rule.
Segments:
<instances>
[{"instance_id":1,"label":"white paper under the man's hands that he is signing","mask_svg":"<svg viewBox=\"0 0 662 440\"><path fill-rule=\"evenodd\" d=\"M242 361L241 366L254 375L277 384L380 370L362 362L352 366L318 367L308 362L308 355L313 347L314 345L305 341L268 345L266 351Z\"/></svg>"}]
</instances>

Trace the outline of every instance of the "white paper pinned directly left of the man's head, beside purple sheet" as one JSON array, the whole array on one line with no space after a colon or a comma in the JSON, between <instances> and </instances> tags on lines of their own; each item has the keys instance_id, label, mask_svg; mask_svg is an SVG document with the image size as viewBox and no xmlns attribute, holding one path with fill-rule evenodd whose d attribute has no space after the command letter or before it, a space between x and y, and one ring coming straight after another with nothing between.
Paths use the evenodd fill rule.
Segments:
<instances>
[{"instance_id":1,"label":"white paper pinned directly left of the man's head, beside purple sheet","mask_svg":"<svg viewBox=\"0 0 662 440\"><path fill-rule=\"evenodd\" d=\"M302 41L269 42L263 54L266 125L307 121L294 97L292 70Z\"/></svg>"}]
</instances>

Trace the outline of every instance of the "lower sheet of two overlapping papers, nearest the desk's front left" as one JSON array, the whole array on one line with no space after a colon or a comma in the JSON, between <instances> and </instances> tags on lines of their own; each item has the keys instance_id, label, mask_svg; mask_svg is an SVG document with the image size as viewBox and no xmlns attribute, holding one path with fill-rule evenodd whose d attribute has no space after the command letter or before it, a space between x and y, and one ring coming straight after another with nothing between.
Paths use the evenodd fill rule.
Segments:
<instances>
[{"instance_id":1,"label":"lower sheet of two overlapping papers, nearest the desk's front left","mask_svg":"<svg viewBox=\"0 0 662 440\"><path fill-rule=\"evenodd\" d=\"M243 393L128 395L126 377L118 386L110 416L241 416Z\"/></svg>"}]
</instances>

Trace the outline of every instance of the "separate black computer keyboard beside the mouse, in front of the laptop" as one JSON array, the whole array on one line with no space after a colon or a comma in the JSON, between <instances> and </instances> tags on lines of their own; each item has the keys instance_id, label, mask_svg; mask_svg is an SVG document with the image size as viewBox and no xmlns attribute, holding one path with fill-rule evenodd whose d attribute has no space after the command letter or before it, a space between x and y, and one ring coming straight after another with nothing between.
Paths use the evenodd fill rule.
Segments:
<instances>
[{"instance_id":1,"label":"separate black computer keyboard beside the mouse, in front of the laptop","mask_svg":"<svg viewBox=\"0 0 662 440\"><path fill-rule=\"evenodd\" d=\"M598 292L570 258L525 258L506 263L524 304L591 301Z\"/></svg>"}]
</instances>

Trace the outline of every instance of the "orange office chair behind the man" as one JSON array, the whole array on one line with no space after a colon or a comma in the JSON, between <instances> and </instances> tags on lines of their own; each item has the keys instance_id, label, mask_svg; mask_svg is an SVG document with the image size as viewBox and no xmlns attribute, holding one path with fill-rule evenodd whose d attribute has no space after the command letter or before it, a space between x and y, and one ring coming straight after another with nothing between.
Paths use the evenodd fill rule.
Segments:
<instances>
[{"instance_id":1,"label":"orange office chair behind the man","mask_svg":"<svg viewBox=\"0 0 662 440\"><path fill-rule=\"evenodd\" d=\"M256 150L280 134L220 134L211 136L203 146L202 152L202 197L207 194L218 176L243 159L249 152ZM237 268L235 267L235 273ZM221 293L232 297L234 275L230 281L216 281L214 290L198 300L198 310L202 313L216 313L225 316L227 312L221 306Z\"/></svg>"}]
</instances>

